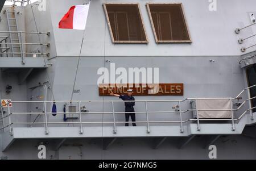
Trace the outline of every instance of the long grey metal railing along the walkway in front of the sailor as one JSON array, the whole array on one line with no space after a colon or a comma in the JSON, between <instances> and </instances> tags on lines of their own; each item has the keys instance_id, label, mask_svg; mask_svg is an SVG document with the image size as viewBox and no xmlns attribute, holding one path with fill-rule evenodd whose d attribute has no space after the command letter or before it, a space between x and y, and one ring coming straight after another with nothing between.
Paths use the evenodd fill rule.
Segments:
<instances>
[{"instance_id":1,"label":"long grey metal railing along the walkway in front of the sailor","mask_svg":"<svg viewBox=\"0 0 256 171\"><path fill-rule=\"evenodd\" d=\"M235 122L239 122L241 120L241 118L243 116L245 116L245 114L250 111L250 118L253 120L253 109L256 109L256 107L251 107L251 100L256 99L256 97L250 97L250 89L256 87L256 85L247 87L246 89L243 89L241 91L240 94L237 95L237 97L235 98L186 98L183 100L151 100L151 101L127 101L127 102L143 102L144 106L145 106L145 111L137 111L137 114L146 114L146 120L145 121L137 121L135 123L146 123L146 127L147 127L147 133L150 134L150 124L151 123L179 123L180 124L180 132L183 133L184 132L184 123L187 123L189 121L196 121L197 122L197 131L200 131L200 121L204 120L204 121L231 121L232 123L232 131L235 131ZM233 109L233 102L232 100L235 99L241 99L240 96L247 91L248 94L248 99L246 99L245 101L243 101L241 103L241 105L237 108L237 109ZM228 99L230 101L230 109L188 109L188 110L181 110L181 102L185 102L188 100L199 100L199 99ZM80 128L80 134L83 134L83 130L82 130L82 125L83 124L113 124L113 133L117 133L117 123L134 123L134 122L118 122L115 120L115 114L128 114L128 113L134 113L134 112L123 112L123 111L115 111L114 110L114 103L123 103L126 101L12 101L11 103L15 104L15 103L43 103L44 106L44 111L43 112L11 112L10 111L10 106L7 105L7 115L4 116L3 115L3 110L2 111L2 118L1 119L5 119L8 118L9 120L9 124L5 125L5 123L3 122L3 128L1 128L0 130L4 130L5 128L9 127L9 131L10 134L13 134L13 125L18 125L18 124L27 124L27 125L37 125L37 124L44 124L45 127L45 133L49 134L49 130L48 127L51 124L79 124L79 128ZM178 111L149 111L148 110L148 103L149 102L175 102L179 105L179 110ZM238 111L241 109L242 106L245 105L246 102L249 102L249 109L245 110L239 118L235 119L234 118L234 112ZM79 107L79 111L78 112L56 112L56 114L79 114L79 122L49 122L48 121L48 115L52 114L52 112L47 112L47 103L77 103L78 107ZM112 111L109 112L102 112L102 111L96 111L96 112L81 112L80 107L81 107L81 103L110 103L112 105ZM2 109L3 106L1 106ZM189 111L196 111L197 114L197 118L196 119L187 119L187 120L183 120L182 119L182 114L185 114ZM198 112L199 111L231 111L232 113L232 118L231 119L200 119L198 116ZM171 114L179 114L179 118L180 120L164 120L164 121L150 121L148 114L165 114L165 113L171 113ZM11 115L44 115L44 122L11 122ZM113 116L113 122L104 122L103 120L101 122L82 122L82 114L112 114ZM103 126L103 125L102 125Z\"/></svg>"}]
</instances>

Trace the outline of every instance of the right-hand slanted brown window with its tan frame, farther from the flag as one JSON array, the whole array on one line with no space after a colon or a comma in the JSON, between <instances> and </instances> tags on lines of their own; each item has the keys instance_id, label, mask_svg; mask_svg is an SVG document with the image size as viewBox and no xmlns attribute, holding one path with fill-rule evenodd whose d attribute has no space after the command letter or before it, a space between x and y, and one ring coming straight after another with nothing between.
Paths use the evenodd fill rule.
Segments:
<instances>
[{"instance_id":1,"label":"right-hand slanted brown window with its tan frame, farther from the flag","mask_svg":"<svg viewBox=\"0 0 256 171\"><path fill-rule=\"evenodd\" d=\"M181 3L147 3L158 43L191 43Z\"/></svg>"}]
</instances>

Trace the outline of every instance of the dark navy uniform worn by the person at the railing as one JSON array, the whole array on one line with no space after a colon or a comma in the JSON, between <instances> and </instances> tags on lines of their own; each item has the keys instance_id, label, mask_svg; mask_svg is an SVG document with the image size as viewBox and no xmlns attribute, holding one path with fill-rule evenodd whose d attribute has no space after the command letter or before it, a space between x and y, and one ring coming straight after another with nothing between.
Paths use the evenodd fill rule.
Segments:
<instances>
[{"instance_id":1,"label":"dark navy uniform worn by the person at the railing","mask_svg":"<svg viewBox=\"0 0 256 171\"><path fill-rule=\"evenodd\" d=\"M121 98L123 101L135 101L133 96L129 95L120 95L119 98ZM131 121L133 122L133 126L136 126L136 120L135 120L135 112L133 106L135 105L135 102L125 102L125 111L126 112L133 112L125 114L125 122L129 122L129 117L131 116ZM129 126L129 123L125 123L125 126Z\"/></svg>"}]
</instances>

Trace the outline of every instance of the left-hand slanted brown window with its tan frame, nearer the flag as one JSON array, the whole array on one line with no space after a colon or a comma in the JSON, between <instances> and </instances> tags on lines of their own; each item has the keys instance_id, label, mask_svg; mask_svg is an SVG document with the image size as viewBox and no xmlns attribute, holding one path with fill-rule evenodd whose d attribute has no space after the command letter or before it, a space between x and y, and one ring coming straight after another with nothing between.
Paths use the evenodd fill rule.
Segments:
<instances>
[{"instance_id":1,"label":"left-hand slanted brown window with its tan frame, nearer the flag","mask_svg":"<svg viewBox=\"0 0 256 171\"><path fill-rule=\"evenodd\" d=\"M138 3L105 3L110 35L114 43L147 43Z\"/></svg>"}]
</instances>

